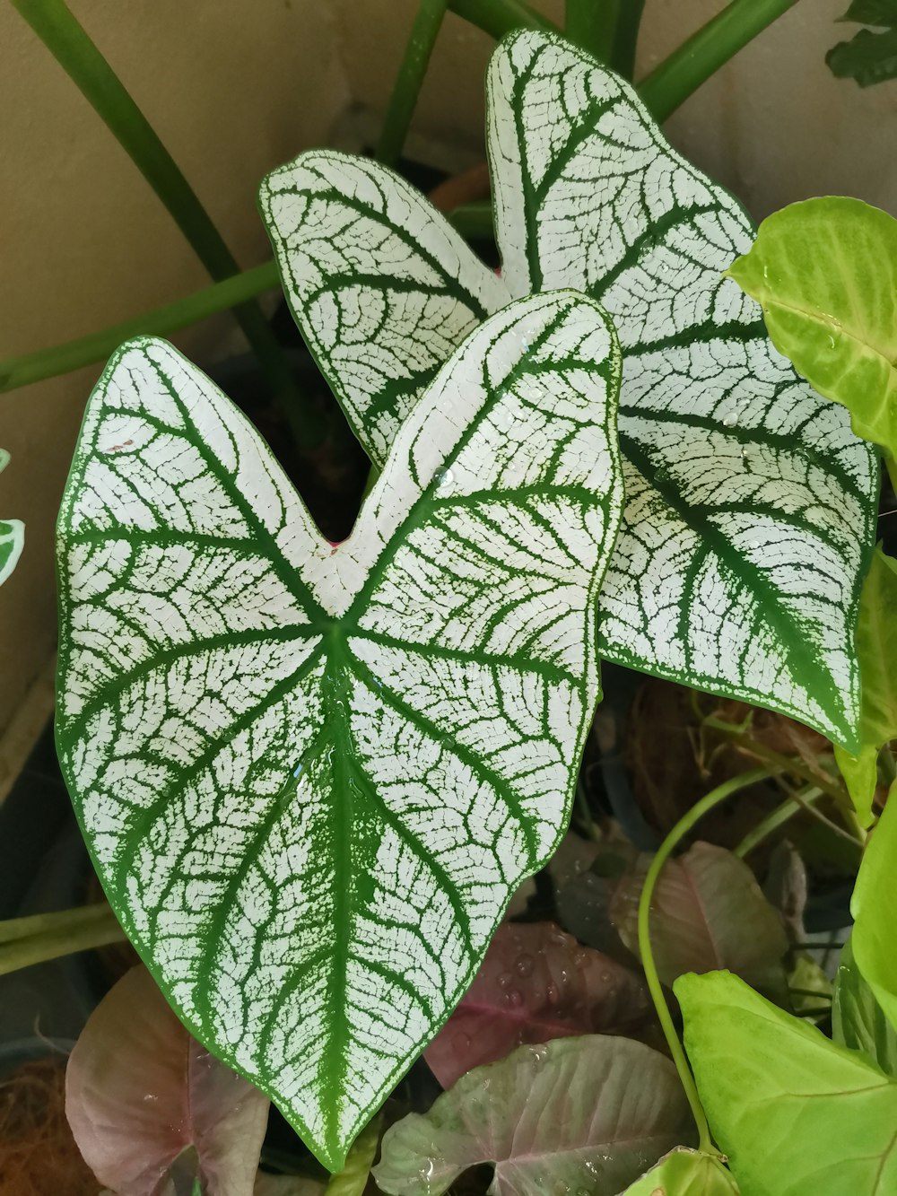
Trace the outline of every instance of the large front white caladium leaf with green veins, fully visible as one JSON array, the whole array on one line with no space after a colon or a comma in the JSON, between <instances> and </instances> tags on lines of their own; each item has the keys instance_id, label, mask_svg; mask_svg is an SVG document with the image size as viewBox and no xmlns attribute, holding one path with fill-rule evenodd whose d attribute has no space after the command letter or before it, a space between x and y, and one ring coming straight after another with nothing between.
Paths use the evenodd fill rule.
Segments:
<instances>
[{"instance_id":1,"label":"large front white caladium leaf with green veins, fully visible","mask_svg":"<svg viewBox=\"0 0 897 1196\"><path fill-rule=\"evenodd\" d=\"M331 1170L568 818L618 379L591 300L505 309L338 548L165 342L120 349L90 401L59 523L63 771L163 991Z\"/></svg>"}]
</instances>

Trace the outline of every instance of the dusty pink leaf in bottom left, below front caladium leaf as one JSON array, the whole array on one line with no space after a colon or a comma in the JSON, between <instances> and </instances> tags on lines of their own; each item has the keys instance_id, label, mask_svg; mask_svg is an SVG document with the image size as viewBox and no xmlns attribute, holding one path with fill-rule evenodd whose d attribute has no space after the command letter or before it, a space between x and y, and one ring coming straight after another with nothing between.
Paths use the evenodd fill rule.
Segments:
<instances>
[{"instance_id":1,"label":"dusty pink leaf in bottom left, below front caladium leaf","mask_svg":"<svg viewBox=\"0 0 897 1196\"><path fill-rule=\"evenodd\" d=\"M268 1100L181 1025L145 968L100 1001L66 1072L66 1116L116 1196L155 1196L185 1151L208 1196L252 1196Z\"/></svg>"}]
</instances>

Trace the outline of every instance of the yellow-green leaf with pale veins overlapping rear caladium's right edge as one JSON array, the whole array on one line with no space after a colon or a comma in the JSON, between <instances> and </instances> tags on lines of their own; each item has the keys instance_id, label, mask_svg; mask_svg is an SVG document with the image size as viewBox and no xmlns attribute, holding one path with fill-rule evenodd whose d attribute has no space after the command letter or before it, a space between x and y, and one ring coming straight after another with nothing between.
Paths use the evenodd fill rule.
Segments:
<instances>
[{"instance_id":1,"label":"yellow-green leaf with pale veins overlapping rear caladium's right edge","mask_svg":"<svg viewBox=\"0 0 897 1196\"><path fill-rule=\"evenodd\" d=\"M759 226L730 277L763 307L776 348L897 453L897 220L860 200L792 203Z\"/></svg>"}]
</instances>

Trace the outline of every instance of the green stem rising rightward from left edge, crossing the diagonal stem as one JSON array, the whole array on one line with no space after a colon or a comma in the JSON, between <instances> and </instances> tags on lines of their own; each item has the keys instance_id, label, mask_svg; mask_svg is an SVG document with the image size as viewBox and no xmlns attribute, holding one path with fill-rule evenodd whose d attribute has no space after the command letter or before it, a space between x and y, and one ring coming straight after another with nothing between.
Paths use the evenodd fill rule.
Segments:
<instances>
[{"instance_id":1,"label":"green stem rising rightward from left edge, crossing the diagonal stem","mask_svg":"<svg viewBox=\"0 0 897 1196\"><path fill-rule=\"evenodd\" d=\"M6 361L0 361L0 393L43 382L44 378L71 373L72 370L80 370L96 361L105 361L114 349L133 336L167 336L179 328L187 328L207 316L226 311L250 297L274 291L279 286L277 267L274 262L266 262L263 266L225 279L224 282L215 282L185 299L176 299L164 307L126 319L121 324L111 324L77 341L67 341L51 349L38 349L36 353L25 353L18 358L7 358Z\"/></svg>"}]
</instances>

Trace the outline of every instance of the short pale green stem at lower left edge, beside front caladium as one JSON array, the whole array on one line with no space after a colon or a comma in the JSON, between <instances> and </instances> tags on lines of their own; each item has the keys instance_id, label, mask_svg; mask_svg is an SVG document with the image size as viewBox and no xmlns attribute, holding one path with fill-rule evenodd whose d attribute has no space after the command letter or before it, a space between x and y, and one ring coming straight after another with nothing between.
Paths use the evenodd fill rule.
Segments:
<instances>
[{"instance_id":1,"label":"short pale green stem at lower left edge, beside front caladium","mask_svg":"<svg viewBox=\"0 0 897 1196\"><path fill-rule=\"evenodd\" d=\"M0 976L124 939L105 902L0 922Z\"/></svg>"}]
</instances>

